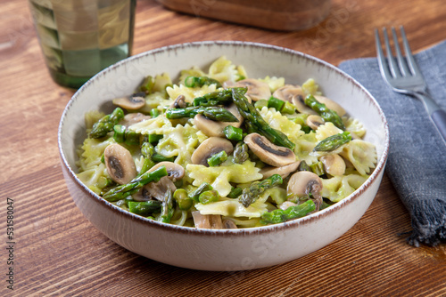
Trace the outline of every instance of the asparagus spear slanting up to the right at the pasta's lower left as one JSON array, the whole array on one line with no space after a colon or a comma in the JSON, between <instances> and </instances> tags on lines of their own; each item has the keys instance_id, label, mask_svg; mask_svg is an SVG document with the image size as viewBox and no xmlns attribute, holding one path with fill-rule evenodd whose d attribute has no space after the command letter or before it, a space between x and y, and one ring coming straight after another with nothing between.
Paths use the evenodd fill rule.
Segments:
<instances>
[{"instance_id":1,"label":"asparagus spear slanting up to the right at the pasta's lower left","mask_svg":"<svg viewBox=\"0 0 446 297\"><path fill-rule=\"evenodd\" d=\"M110 202L118 201L135 194L138 189L143 188L149 182L160 181L161 177L166 175L168 175L166 166L162 165L153 172L146 172L144 174L136 176L136 178L130 181L128 184L120 185L109 190L108 192L103 194L103 198Z\"/></svg>"}]
</instances>

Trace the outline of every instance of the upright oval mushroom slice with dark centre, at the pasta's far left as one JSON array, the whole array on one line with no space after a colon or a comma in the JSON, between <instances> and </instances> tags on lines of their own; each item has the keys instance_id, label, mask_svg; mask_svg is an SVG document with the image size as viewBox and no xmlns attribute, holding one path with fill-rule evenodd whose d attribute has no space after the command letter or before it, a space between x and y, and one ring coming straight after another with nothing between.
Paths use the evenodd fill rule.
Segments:
<instances>
[{"instance_id":1,"label":"upright oval mushroom slice with dark centre, at the pasta's far left","mask_svg":"<svg viewBox=\"0 0 446 297\"><path fill-rule=\"evenodd\" d=\"M127 148L112 143L105 148L103 157L111 180L124 185L136 177L135 161Z\"/></svg>"}]
</instances>

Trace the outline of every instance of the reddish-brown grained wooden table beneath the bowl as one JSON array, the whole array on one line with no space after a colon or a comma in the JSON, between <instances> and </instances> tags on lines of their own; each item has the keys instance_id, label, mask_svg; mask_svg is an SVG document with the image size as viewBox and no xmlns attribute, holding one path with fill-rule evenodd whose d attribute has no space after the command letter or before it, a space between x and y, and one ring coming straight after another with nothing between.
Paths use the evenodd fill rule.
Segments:
<instances>
[{"instance_id":1,"label":"reddish-brown grained wooden table beneath the bowl","mask_svg":"<svg viewBox=\"0 0 446 297\"><path fill-rule=\"evenodd\" d=\"M78 211L62 178L57 128L73 91L51 80L27 2L0 2L0 295L446 295L446 246L406 244L399 234L410 230L409 215L385 175L373 204L350 231L284 265L194 271L114 244ZM331 14L316 28L277 32L195 18L141 0L134 53L200 40L244 40L307 52L337 65L375 56L373 28L401 24L412 49L422 50L446 39L446 5L443 0L334 0ZM13 201L13 291L6 287L8 201Z\"/></svg>"}]
</instances>

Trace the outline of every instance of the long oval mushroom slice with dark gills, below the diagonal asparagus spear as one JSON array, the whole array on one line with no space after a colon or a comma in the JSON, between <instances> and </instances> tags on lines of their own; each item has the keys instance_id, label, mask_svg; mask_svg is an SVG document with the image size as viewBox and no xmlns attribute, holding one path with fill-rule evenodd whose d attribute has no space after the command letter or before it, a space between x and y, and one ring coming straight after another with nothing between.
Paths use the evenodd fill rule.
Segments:
<instances>
[{"instance_id":1,"label":"long oval mushroom slice with dark gills, below the diagonal asparagus spear","mask_svg":"<svg viewBox=\"0 0 446 297\"><path fill-rule=\"evenodd\" d=\"M244 143L252 150L255 156L268 165L276 167L292 164L296 156L290 148L279 147L258 133L246 135Z\"/></svg>"}]
</instances>

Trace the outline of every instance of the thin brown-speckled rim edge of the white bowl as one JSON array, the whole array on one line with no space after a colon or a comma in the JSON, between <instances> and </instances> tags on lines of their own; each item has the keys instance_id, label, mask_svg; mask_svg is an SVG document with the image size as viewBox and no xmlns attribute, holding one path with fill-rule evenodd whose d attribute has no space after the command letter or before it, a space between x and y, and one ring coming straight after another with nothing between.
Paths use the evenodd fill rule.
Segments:
<instances>
[{"instance_id":1,"label":"thin brown-speckled rim edge of the white bowl","mask_svg":"<svg viewBox=\"0 0 446 297\"><path fill-rule=\"evenodd\" d=\"M253 228L244 228L244 229L196 229L196 228L191 228L191 227L178 226L178 225L173 225L173 224L168 224L168 223L162 223L162 222L159 222L159 221L154 221L154 220L142 217L140 215L137 215L135 213L130 213L130 212L126 211L126 210L123 210L122 208L120 208L117 205L112 205L110 202L106 201L102 197L100 197L97 194L95 194L95 192L93 192L91 189L88 189L87 186L82 181L80 181L78 179L78 176L76 175L76 173L71 168L71 166L68 163L66 157L64 156L63 150L62 150L62 127L63 127L64 119L67 116L67 113L68 113L68 111L70 109L70 106L73 104L73 102L75 100L77 100L79 94L81 92L83 92L83 90L86 89L89 84L92 84L92 81L94 81L96 77L104 76L104 75L106 75L107 72L111 71L113 68L119 68L120 65L126 64L129 61L138 60L138 59L141 59L141 58L145 57L146 55L153 55L153 54L156 54L157 52L178 51L178 50L180 50L182 48L186 48L186 47L202 47L202 46L211 46L211 45L214 45L214 44L215 45L228 45L228 46L234 46L235 45L235 46L258 47L258 48L274 50L274 51L278 51L278 52L288 52L288 53L291 53L293 55L301 56L304 59L313 60L314 62L318 63L319 65L321 65L323 67L330 68L332 71L335 71L338 74L346 77L348 80L351 81L352 84L355 84L356 87L359 87L359 89L362 92L365 92L368 95L368 100L371 100L372 104L379 111L379 115L381 116L382 123L384 124L384 132L385 132L385 141L384 141L383 155L378 160L378 163L376 164L376 168L375 168L374 172L368 177L367 181L365 181L359 187L359 189L356 189L348 197L345 197L343 200L335 203L335 205L331 205L331 206L329 206L329 207L327 207L327 208L325 208L322 211L319 211L317 213L312 213L312 214L310 214L308 216L305 216L305 217L302 217L302 218L299 218L299 219L294 219L292 221L285 221L283 223L267 225L267 226L260 226L260 227L253 227ZM179 69L178 69L178 71L179 71ZM136 54L134 56L128 57L125 60L120 60L119 62L111 65L108 68L104 68L101 72L97 73L90 80L88 80L86 84L83 84L78 89L78 91L73 94L73 96L71 97L71 99L69 100L69 102L67 103L66 107L63 110L63 113L62 113L62 116L61 116L61 120L60 120L60 123L59 123L59 129L58 129L58 146L59 146L59 154L60 154L61 159L62 159L62 165L65 166L65 168L68 170L68 173L70 173L70 176L84 190L84 192L86 192L86 194L88 196L90 196L93 199L95 199L96 202L98 202L99 204L101 204L103 206L106 206L106 207L109 207L111 209L111 211L113 211L114 213L117 213L119 215L123 215L123 216L127 217L128 219L130 219L130 220L132 220L132 221L134 221L136 223L141 223L141 224L145 224L145 225L148 224L149 226L153 226L154 228L161 228L161 229L164 229L166 231L178 232L178 233L186 233L189 236L193 236L193 235L195 235L195 236L200 236L200 235L252 236L252 235L257 235L257 234L268 234L268 233L271 233L271 232L277 232L278 230L281 230L281 229L296 228L299 225L308 224L308 223L310 223L312 221L316 221L320 217L324 217L326 215L329 215L330 213L335 213L338 209L343 208L344 205L351 204L366 189L368 189L374 181L376 181L376 178L384 170L384 166L385 166L385 163L387 161L388 152L389 152L389 142L390 142L390 139L389 139L389 128L388 128L386 117L384 116L383 109L379 106L379 104L377 103L376 99L373 97L373 95L370 92L368 92L368 90L365 87L363 87L361 84L359 84L359 82L356 79L354 79L350 75L348 75L345 72L343 72L343 70L341 70L339 68L336 68L334 65L332 65L332 64L330 64L330 63L328 63L328 62L326 62L324 60L320 60L320 59L318 59L316 57L310 56L307 53L294 51L294 50L291 50L291 49L288 49L288 48L285 48L285 47L280 47L280 46L277 46L277 45L261 44L261 43L254 43L254 42L244 42L244 41L219 41L219 40L217 40L217 41L201 41L201 42L192 42L192 43L167 45L167 46L156 48L156 49L153 49L153 50L150 50L150 51L147 51L147 52L141 52L141 53Z\"/></svg>"}]
</instances>

